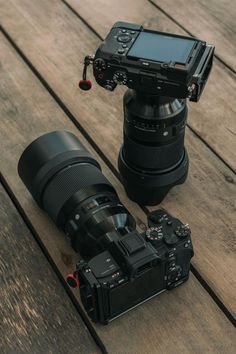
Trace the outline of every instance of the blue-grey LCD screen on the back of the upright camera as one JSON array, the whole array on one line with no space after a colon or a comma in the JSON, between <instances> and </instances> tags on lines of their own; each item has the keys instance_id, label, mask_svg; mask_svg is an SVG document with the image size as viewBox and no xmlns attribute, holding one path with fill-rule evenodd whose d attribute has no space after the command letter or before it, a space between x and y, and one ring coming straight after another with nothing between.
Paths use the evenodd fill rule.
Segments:
<instances>
[{"instance_id":1,"label":"blue-grey LCD screen on the back of the upright camera","mask_svg":"<svg viewBox=\"0 0 236 354\"><path fill-rule=\"evenodd\" d=\"M128 57L185 64L195 43L192 39L141 32Z\"/></svg>"}]
</instances>

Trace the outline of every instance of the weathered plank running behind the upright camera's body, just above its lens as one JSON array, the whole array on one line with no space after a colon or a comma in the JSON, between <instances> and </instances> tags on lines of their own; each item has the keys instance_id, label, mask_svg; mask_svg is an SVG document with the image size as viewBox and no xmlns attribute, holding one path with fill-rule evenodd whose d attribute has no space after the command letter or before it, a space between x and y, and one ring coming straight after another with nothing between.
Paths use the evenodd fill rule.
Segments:
<instances>
[{"instance_id":1,"label":"weathered plank running behind the upright camera's body, just above its lens","mask_svg":"<svg viewBox=\"0 0 236 354\"><path fill-rule=\"evenodd\" d=\"M93 6L93 0L86 2L67 0L67 3L103 38L111 26L120 19L143 23L146 27L161 31L188 35L146 0L121 0L119 2L99 0L100 6ZM163 1L164 3L165 1ZM109 8L110 11L104 11L106 8ZM176 3L174 6L172 4L170 8L176 11ZM190 9L191 7L187 6L186 8ZM193 24L199 23L195 20L195 17L193 20L193 16L189 17L189 21ZM207 40L207 33L201 33L200 38ZM215 44L214 41L212 43ZM234 55L234 60L235 57L236 55ZM235 100L235 75L225 70L224 66L215 59L212 73L201 100L197 104L189 103L188 116L189 126L234 170L236 170Z\"/></svg>"}]
</instances>

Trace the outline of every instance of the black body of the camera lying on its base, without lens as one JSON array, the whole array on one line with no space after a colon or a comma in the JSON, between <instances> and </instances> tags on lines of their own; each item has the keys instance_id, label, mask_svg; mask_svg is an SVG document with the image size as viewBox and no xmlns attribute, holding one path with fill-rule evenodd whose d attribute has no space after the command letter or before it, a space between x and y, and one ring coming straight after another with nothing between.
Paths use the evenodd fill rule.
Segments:
<instances>
[{"instance_id":1,"label":"black body of the camera lying on its base, without lens","mask_svg":"<svg viewBox=\"0 0 236 354\"><path fill-rule=\"evenodd\" d=\"M77 264L74 276L94 322L107 324L188 279L193 256L188 225L160 209L150 213L148 226L145 233L131 231L88 262Z\"/></svg>"}]
</instances>

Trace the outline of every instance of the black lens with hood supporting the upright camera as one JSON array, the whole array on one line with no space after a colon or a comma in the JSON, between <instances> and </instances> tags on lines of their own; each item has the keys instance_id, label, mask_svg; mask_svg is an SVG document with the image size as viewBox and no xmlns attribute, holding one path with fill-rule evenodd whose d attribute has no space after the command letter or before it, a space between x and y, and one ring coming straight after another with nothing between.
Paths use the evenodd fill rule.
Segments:
<instances>
[{"instance_id":1,"label":"black lens with hood supporting the upright camera","mask_svg":"<svg viewBox=\"0 0 236 354\"><path fill-rule=\"evenodd\" d=\"M158 204L187 177L186 102L128 90L124 116L118 167L126 193L140 204Z\"/></svg>"}]
</instances>

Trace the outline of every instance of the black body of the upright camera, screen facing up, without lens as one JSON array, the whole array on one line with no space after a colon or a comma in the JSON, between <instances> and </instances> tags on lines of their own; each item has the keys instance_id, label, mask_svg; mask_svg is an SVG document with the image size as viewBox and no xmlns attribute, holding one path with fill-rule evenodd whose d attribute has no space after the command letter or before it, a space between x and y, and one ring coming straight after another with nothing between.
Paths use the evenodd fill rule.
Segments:
<instances>
[{"instance_id":1,"label":"black body of the upright camera, screen facing up, without lens","mask_svg":"<svg viewBox=\"0 0 236 354\"><path fill-rule=\"evenodd\" d=\"M97 49L93 73L113 91L117 84L152 95L197 102L212 67L214 47L185 36L117 22Z\"/></svg>"}]
</instances>

